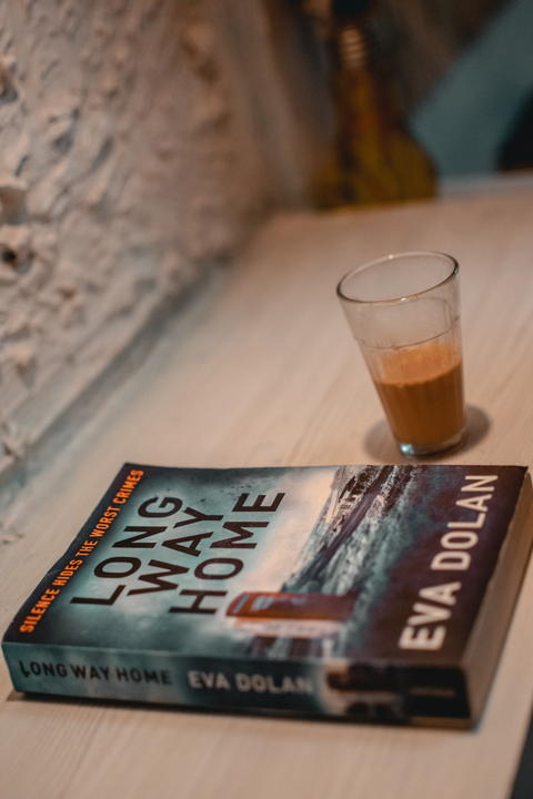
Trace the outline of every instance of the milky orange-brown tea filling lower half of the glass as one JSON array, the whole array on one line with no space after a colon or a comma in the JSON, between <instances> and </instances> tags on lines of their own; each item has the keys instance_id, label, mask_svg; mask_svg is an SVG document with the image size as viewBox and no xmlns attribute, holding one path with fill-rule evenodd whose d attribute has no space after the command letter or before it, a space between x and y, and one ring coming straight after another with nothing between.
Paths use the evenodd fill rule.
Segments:
<instances>
[{"instance_id":1,"label":"milky orange-brown tea filling lower half of the glass","mask_svg":"<svg viewBox=\"0 0 533 799\"><path fill-rule=\"evenodd\" d=\"M389 350L374 361L374 385L392 433L418 454L439 452L464 428L463 370L453 344Z\"/></svg>"}]
</instances>

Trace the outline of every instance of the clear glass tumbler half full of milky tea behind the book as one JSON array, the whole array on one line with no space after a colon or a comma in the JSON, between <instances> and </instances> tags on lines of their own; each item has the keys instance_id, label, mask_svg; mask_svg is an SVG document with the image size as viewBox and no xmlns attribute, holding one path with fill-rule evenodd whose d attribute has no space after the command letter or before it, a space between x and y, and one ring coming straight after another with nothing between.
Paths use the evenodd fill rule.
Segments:
<instances>
[{"instance_id":1,"label":"clear glass tumbler half full of milky tea behind the book","mask_svg":"<svg viewBox=\"0 0 533 799\"><path fill-rule=\"evenodd\" d=\"M465 423L455 259L385 255L349 272L336 292L400 451L457 446Z\"/></svg>"}]
</instances>

